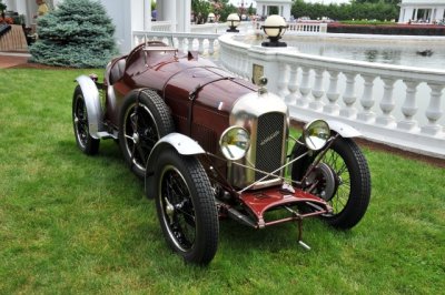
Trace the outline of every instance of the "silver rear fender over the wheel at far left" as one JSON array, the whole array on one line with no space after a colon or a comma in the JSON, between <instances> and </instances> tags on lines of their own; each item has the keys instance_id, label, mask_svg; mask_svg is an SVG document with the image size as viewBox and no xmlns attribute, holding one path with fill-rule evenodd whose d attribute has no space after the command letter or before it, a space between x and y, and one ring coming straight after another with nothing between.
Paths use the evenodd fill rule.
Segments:
<instances>
[{"instance_id":1,"label":"silver rear fender over the wheel at far left","mask_svg":"<svg viewBox=\"0 0 445 295\"><path fill-rule=\"evenodd\" d=\"M76 81L83 93L90 136L93 139L100 139L99 131L102 130L103 115L100 106L99 90L96 87L95 81L92 81L88 75L80 75Z\"/></svg>"}]
</instances>

